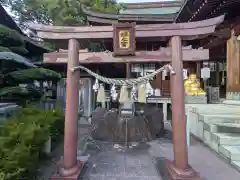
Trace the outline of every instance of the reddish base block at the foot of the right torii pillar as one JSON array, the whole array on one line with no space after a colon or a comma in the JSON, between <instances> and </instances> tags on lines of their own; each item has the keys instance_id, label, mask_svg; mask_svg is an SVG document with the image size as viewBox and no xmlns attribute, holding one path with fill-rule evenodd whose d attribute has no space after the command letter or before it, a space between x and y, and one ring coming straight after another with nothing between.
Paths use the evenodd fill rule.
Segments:
<instances>
[{"instance_id":1,"label":"reddish base block at the foot of the right torii pillar","mask_svg":"<svg viewBox=\"0 0 240 180\"><path fill-rule=\"evenodd\" d=\"M191 167L180 170L175 167L172 161L166 161L166 170L169 180L200 180L200 176Z\"/></svg>"}]
</instances>

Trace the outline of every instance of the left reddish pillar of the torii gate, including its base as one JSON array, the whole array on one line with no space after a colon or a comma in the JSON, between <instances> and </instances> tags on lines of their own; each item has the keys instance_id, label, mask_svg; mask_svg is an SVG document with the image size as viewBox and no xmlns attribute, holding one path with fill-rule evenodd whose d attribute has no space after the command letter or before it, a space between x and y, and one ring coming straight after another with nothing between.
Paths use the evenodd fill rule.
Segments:
<instances>
[{"instance_id":1,"label":"left reddish pillar of the torii gate, including its base","mask_svg":"<svg viewBox=\"0 0 240 180\"><path fill-rule=\"evenodd\" d=\"M67 96L64 127L64 157L59 163L58 175L51 180L78 180L83 164L77 160L78 141L78 105L79 105L79 71L71 69L79 64L79 43L76 39L68 42Z\"/></svg>"}]
</instances>

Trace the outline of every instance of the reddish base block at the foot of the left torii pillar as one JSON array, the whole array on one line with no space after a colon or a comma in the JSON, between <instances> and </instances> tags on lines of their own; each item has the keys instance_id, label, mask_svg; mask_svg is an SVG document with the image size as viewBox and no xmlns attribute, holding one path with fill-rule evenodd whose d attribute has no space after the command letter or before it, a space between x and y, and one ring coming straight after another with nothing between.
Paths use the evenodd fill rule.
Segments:
<instances>
[{"instance_id":1,"label":"reddish base block at the foot of the left torii pillar","mask_svg":"<svg viewBox=\"0 0 240 180\"><path fill-rule=\"evenodd\" d=\"M59 163L59 173L50 177L50 180L78 180L82 172L84 162L78 161L77 165L71 169L64 169Z\"/></svg>"}]
</instances>

